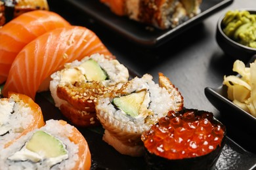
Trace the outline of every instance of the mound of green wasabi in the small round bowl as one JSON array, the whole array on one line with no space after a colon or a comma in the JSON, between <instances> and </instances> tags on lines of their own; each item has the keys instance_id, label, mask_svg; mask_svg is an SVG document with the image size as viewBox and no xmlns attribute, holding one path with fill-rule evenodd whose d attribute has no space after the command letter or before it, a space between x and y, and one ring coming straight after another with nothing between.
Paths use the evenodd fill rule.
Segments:
<instances>
[{"instance_id":1,"label":"mound of green wasabi in the small round bowl","mask_svg":"<svg viewBox=\"0 0 256 170\"><path fill-rule=\"evenodd\" d=\"M223 18L223 32L230 39L256 48L256 14L247 10L230 10Z\"/></svg>"}]
</instances>

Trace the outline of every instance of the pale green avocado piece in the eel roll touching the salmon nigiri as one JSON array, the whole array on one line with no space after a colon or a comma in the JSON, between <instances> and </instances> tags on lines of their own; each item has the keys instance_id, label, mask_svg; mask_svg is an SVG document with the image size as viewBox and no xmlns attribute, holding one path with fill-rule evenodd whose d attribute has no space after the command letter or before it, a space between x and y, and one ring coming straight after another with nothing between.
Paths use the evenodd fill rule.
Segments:
<instances>
[{"instance_id":1,"label":"pale green avocado piece in the eel roll touching the salmon nigiri","mask_svg":"<svg viewBox=\"0 0 256 170\"><path fill-rule=\"evenodd\" d=\"M84 68L86 79L89 82L93 80L103 81L106 80L106 78L108 78L106 72L102 70L100 65L98 65L98 63L93 59L88 59L87 61L82 63L80 67Z\"/></svg>"}]
</instances>

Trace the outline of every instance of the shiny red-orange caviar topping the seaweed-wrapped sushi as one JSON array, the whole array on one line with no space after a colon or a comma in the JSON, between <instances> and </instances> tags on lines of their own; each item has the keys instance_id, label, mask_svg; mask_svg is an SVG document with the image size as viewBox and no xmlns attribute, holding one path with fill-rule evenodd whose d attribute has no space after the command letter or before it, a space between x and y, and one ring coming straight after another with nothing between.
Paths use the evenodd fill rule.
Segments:
<instances>
[{"instance_id":1,"label":"shiny red-orange caviar topping the seaweed-wrapped sushi","mask_svg":"<svg viewBox=\"0 0 256 170\"><path fill-rule=\"evenodd\" d=\"M141 139L148 152L177 160L208 154L221 146L223 136L224 128L211 112L186 110L170 111Z\"/></svg>"}]
</instances>

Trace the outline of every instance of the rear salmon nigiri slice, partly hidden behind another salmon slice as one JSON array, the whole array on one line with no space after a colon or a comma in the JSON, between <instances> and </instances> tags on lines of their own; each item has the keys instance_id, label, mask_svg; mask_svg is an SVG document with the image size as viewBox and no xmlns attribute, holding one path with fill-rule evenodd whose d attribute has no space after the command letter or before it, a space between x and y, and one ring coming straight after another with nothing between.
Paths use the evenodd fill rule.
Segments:
<instances>
[{"instance_id":1,"label":"rear salmon nigiri slice, partly hidden behind another salmon slice","mask_svg":"<svg viewBox=\"0 0 256 170\"><path fill-rule=\"evenodd\" d=\"M12 61L28 42L58 27L70 25L47 10L26 12L0 28L0 84L7 79Z\"/></svg>"}]
</instances>

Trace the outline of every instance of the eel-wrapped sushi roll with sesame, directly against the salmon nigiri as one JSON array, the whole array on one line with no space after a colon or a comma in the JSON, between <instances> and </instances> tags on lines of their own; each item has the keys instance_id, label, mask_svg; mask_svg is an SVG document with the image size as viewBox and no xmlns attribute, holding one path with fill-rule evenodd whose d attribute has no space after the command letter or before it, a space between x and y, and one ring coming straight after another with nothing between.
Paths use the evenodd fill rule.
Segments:
<instances>
[{"instance_id":1,"label":"eel-wrapped sushi roll with sesame, directly against the salmon nigiri","mask_svg":"<svg viewBox=\"0 0 256 170\"><path fill-rule=\"evenodd\" d=\"M51 95L62 114L76 126L95 126L96 99L127 82L129 71L116 59L93 54L67 63L51 78Z\"/></svg>"}]
</instances>

